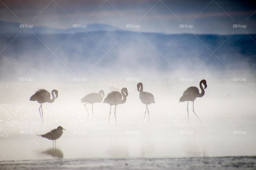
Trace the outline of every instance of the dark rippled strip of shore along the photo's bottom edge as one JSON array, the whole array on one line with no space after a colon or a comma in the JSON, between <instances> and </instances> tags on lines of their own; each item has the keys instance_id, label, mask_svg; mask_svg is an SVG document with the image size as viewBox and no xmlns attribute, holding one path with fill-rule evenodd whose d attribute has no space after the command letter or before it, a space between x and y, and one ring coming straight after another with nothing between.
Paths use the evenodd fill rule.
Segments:
<instances>
[{"instance_id":1,"label":"dark rippled strip of shore along the photo's bottom edge","mask_svg":"<svg viewBox=\"0 0 256 170\"><path fill-rule=\"evenodd\" d=\"M7 169L255 169L256 157L165 159L49 159L2 162Z\"/></svg>"}]
</instances>

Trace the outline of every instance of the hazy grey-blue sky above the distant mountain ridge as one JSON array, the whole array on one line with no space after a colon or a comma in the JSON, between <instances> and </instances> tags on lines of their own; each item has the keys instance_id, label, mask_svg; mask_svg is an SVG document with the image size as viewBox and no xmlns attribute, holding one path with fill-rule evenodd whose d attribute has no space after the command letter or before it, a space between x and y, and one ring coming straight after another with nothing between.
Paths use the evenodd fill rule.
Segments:
<instances>
[{"instance_id":1,"label":"hazy grey-blue sky above the distant mountain ridge","mask_svg":"<svg viewBox=\"0 0 256 170\"><path fill-rule=\"evenodd\" d=\"M44 0L0 2L0 20L69 28L73 24L105 23L134 31L164 33L255 33L256 5L252 1L117 1ZM180 28L180 24L193 28ZM246 28L233 28L233 24ZM129 29L129 28L128 28Z\"/></svg>"}]
</instances>

